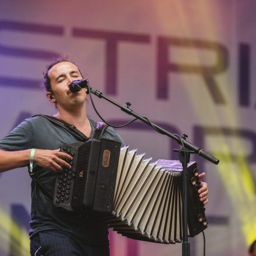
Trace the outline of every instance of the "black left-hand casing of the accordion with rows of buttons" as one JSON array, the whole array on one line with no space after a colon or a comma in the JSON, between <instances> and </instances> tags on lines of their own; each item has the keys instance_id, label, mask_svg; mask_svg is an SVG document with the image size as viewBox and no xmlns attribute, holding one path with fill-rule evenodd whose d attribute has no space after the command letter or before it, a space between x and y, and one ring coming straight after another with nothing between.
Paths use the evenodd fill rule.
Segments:
<instances>
[{"instance_id":1,"label":"black left-hand casing of the accordion with rows of buttons","mask_svg":"<svg viewBox=\"0 0 256 256\"><path fill-rule=\"evenodd\" d=\"M113 208L113 190L121 143L102 138L86 143L63 143L61 151L72 155L72 168L56 176L55 207L67 211L90 209L108 214Z\"/></svg>"}]
</instances>

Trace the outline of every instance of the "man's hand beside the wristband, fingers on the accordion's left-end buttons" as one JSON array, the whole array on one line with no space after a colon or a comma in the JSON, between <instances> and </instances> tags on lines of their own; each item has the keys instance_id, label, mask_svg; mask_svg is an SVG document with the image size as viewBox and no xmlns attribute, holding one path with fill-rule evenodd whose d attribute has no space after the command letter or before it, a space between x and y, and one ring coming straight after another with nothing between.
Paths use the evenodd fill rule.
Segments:
<instances>
[{"instance_id":1,"label":"man's hand beside the wristband, fingers on the accordion's left-end buttons","mask_svg":"<svg viewBox=\"0 0 256 256\"><path fill-rule=\"evenodd\" d=\"M62 166L71 168L71 165L62 158L66 158L71 161L73 158L71 155L60 152L60 150L35 150L34 163L37 165L52 170L52 172L61 172ZM62 166L61 166L62 165Z\"/></svg>"}]
</instances>

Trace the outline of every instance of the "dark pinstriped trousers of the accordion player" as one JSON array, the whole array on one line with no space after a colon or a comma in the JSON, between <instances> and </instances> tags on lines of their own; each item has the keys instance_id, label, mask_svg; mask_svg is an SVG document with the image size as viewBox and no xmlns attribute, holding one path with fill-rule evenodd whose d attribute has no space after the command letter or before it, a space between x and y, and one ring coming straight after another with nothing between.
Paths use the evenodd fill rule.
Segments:
<instances>
[{"instance_id":1,"label":"dark pinstriped trousers of the accordion player","mask_svg":"<svg viewBox=\"0 0 256 256\"><path fill-rule=\"evenodd\" d=\"M30 241L32 256L109 256L109 246L83 244L69 234L58 231L40 232Z\"/></svg>"}]
</instances>

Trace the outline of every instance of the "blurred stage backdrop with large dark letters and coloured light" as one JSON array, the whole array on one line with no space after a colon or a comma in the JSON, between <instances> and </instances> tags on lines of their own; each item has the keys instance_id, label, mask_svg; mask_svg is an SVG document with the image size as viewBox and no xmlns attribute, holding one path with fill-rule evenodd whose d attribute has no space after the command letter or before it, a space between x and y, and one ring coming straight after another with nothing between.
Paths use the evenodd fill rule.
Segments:
<instances>
[{"instance_id":1,"label":"blurred stage backdrop with large dark letters and coloured light","mask_svg":"<svg viewBox=\"0 0 256 256\"><path fill-rule=\"evenodd\" d=\"M246 255L256 239L255 11L248 0L2 0L0 137L55 113L38 84L49 59L67 54L91 86L221 160L193 157L209 183L207 255ZM130 120L95 103L109 122ZM177 159L177 144L140 122L118 132L147 157ZM27 168L0 175L0 200L0 255L28 255ZM181 244L109 238L112 256L182 254ZM191 255L202 255L202 234L190 242Z\"/></svg>"}]
</instances>

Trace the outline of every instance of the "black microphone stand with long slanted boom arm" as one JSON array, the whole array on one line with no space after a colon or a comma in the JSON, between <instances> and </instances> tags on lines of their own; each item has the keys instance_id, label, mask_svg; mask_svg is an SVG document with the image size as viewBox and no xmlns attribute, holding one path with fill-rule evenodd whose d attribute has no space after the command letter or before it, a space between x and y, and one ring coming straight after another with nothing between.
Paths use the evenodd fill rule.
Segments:
<instances>
[{"instance_id":1,"label":"black microphone stand with long slanted boom arm","mask_svg":"<svg viewBox=\"0 0 256 256\"><path fill-rule=\"evenodd\" d=\"M155 130L157 130L159 133L164 134L173 140L177 141L180 145L182 145L182 150L175 150L176 152L179 152L179 158L180 162L183 166L183 242L182 242L182 255L183 256L190 256L190 244L188 240L188 234L187 234L187 163L190 161L190 154L197 154L201 157L207 159L208 161L215 163L215 165L218 165L219 159L216 159L212 155L209 155L208 153L204 152L201 148L197 147L196 145L193 145L189 141L186 140L188 137L186 134L183 134L181 137L177 136L176 134L169 133L169 131L163 129L162 127L155 125L154 123L150 122L147 118L144 116L139 115L138 113L134 112L132 109L130 109L130 102L126 102L126 105L120 105L117 102L113 101L112 99L106 97L104 94L102 94L101 91L98 91L94 89L93 87L89 86L89 83L86 86L87 88L87 94L93 93L98 98L104 98L106 101L111 102L113 105L118 106L123 112L126 112L127 114L134 116L136 119L141 120L144 123L147 123L147 125L150 125L154 127Z\"/></svg>"}]
</instances>

